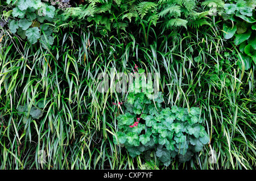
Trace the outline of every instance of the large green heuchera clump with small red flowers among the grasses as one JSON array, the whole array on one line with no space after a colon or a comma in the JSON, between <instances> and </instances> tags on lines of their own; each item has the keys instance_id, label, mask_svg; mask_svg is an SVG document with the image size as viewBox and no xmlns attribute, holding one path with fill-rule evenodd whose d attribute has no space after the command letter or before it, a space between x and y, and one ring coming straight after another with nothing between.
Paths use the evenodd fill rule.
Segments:
<instances>
[{"instance_id":1,"label":"large green heuchera clump with small red flowers among the grasses","mask_svg":"<svg viewBox=\"0 0 256 181\"><path fill-rule=\"evenodd\" d=\"M135 78L136 81L140 83L135 89L143 89L142 77ZM118 131L113 137L115 144L124 146L131 157L143 155L150 160L155 152L159 161L169 166L176 156L180 162L189 161L209 142L200 108L192 107L189 111L177 106L163 108L162 92L149 99L148 91L134 93L131 91L134 83L131 87L123 103L125 113L117 117Z\"/></svg>"}]
</instances>

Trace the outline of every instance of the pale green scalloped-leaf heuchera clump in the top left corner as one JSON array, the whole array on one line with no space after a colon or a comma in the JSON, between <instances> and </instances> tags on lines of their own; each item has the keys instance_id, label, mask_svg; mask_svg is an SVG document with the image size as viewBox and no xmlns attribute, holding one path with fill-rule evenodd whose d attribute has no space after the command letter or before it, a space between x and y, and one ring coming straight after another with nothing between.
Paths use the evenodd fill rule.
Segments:
<instances>
[{"instance_id":1,"label":"pale green scalloped-leaf heuchera clump in the top left corner","mask_svg":"<svg viewBox=\"0 0 256 181\"><path fill-rule=\"evenodd\" d=\"M7 3L14 6L12 10L14 19L9 21L12 33L18 33L22 39L27 38L31 44L35 44L40 39L43 48L53 44L53 31L44 23L51 22L54 18L54 6L47 5L40 0L16 0Z\"/></svg>"}]
</instances>

